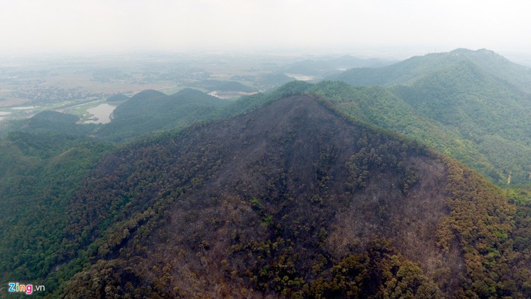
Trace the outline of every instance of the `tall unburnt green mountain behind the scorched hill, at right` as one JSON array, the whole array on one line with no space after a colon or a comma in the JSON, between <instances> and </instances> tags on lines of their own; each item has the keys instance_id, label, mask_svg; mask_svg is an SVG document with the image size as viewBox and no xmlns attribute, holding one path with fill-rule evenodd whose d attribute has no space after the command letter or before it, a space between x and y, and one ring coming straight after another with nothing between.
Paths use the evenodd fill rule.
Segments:
<instances>
[{"instance_id":1,"label":"tall unburnt green mountain behind the scorched hill, at right","mask_svg":"<svg viewBox=\"0 0 531 299\"><path fill-rule=\"evenodd\" d=\"M353 69L308 92L356 118L439 149L498 184L530 183L530 70L487 50L458 49Z\"/></svg>"}]
</instances>

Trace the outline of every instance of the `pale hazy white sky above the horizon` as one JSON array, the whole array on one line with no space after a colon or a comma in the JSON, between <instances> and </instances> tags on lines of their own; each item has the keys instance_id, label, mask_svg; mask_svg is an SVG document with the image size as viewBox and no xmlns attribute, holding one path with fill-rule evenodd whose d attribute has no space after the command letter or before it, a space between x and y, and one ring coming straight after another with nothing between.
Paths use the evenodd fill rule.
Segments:
<instances>
[{"instance_id":1,"label":"pale hazy white sky above the horizon","mask_svg":"<svg viewBox=\"0 0 531 299\"><path fill-rule=\"evenodd\" d=\"M530 3L1 0L0 53L410 47L531 52Z\"/></svg>"}]
</instances>

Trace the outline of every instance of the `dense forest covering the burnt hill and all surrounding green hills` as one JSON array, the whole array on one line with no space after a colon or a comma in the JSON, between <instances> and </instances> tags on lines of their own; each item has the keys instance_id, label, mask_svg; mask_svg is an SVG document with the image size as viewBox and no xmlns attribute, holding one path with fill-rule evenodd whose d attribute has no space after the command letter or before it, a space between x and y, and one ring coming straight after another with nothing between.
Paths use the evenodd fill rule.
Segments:
<instances>
[{"instance_id":1,"label":"dense forest covering the burnt hill and all surrounding green hills","mask_svg":"<svg viewBox=\"0 0 531 299\"><path fill-rule=\"evenodd\" d=\"M525 71L456 50L344 72L367 83L146 90L109 124L14 122L0 280L48 298L529 298Z\"/></svg>"}]
</instances>

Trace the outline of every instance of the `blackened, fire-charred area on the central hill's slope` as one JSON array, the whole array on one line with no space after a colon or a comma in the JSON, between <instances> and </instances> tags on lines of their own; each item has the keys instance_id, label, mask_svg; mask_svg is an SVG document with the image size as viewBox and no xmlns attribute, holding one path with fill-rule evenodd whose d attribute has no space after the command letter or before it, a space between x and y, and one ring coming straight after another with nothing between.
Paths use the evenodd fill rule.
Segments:
<instances>
[{"instance_id":1,"label":"blackened, fire-charred area on the central hill's slope","mask_svg":"<svg viewBox=\"0 0 531 299\"><path fill-rule=\"evenodd\" d=\"M113 264L115 273L122 273L118 276L127 275L122 261L126 265L136 259L141 274L134 287L158 275L155 265L172 264L186 270L172 271L168 290L222 298L228 294L215 285L227 284L254 289L250 297L258 298L275 295L281 286L277 275L308 285L318 283L318 277L328 279L334 263L357 258L352 254L363 254L377 236L395 239L393 246L407 259L439 260L442 253L433 232L446 213L444 169L407 142L355 124L316 97L297 95L108 156L97 168L97 177L89 180L98 183L84 187L88 193L74 200L72 215L88 216L79 223L92 235L99 221L112 217L111 207L123 196L129 198L125 207L133 209L121 211L124 217L138 207L153 207L154 213L165 215L149 236L134 242L148 252L137 254L129 236L120 252L112 245L99 251L104 254L99 266L108 262L106 256L113 257L112 263L118 261ZM152 170L158 175L150 183ZM113 189L103 187L114 184L116 177L134 179ZM148 214L141 215L138 218ZM77 223L70 227L74 235L81 233ZM123 231L120 227L120 234ZM406 235L416 237L400 237ZM446 266L457 277L463 266L459 251L446 254L455 261ZM179 261L173 260L176 257ZM291 270L275 270L280 257L292 264ZM203 266L223 260L225 268ZM312 275L316 263L322 270ZM434 268L423 270L432 277ZM234 277L224 275L226 271ZM79 277L72 286L88 283ZM209 284L190 289L196 280ZM292 291L319 297L301 286L294 284ZM83 297L81 290L71 289ZM372 291L365 289L360 296Z\"/></svg>"}]
</instances>

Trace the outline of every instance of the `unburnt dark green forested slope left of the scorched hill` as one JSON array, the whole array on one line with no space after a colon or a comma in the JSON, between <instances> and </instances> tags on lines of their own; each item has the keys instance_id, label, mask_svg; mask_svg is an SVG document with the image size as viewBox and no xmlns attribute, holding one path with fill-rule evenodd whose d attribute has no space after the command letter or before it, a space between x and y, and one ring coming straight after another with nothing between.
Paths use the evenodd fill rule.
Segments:
<instances>
[{"instance_id":1,"label":"unburnt dark green forested slope left of the scorched hill","mask_svg":"<svg viewBox=\"0 0 531 299\"><path fill-rule=\"evenodd\" d=\"M54 131L15 131L0 140L2 282L43 282L54 272L64 250L68 202L110 150L92 138ZM46 281L50 290L59 285L54 278Z\"/></svg>"}]
</instances>

